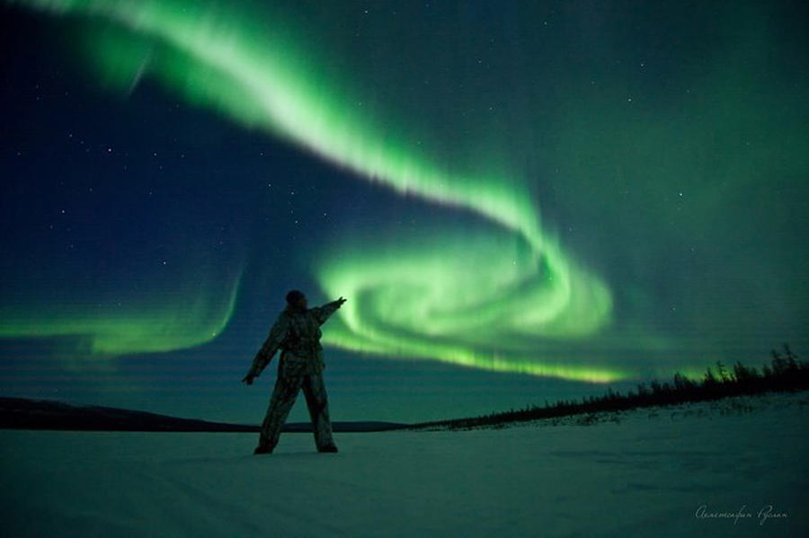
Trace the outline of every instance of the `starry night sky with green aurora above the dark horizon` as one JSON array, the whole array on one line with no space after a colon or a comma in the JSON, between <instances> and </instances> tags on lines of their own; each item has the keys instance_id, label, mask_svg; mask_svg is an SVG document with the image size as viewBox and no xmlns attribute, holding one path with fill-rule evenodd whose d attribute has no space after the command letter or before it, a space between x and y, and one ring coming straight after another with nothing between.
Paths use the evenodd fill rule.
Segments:
<instances>
[{"instance_id":1,"label":"starry night sky with green aurora above the dark horizon","mask_svg":"<svg viewBox=\"0 0 809 538\"><path fill-rule=\"evenodd\" d=\"M806 11L4 3L0 394L255 423L290 288L334 420L804 357Z\"/></svg>"}]
</instances>

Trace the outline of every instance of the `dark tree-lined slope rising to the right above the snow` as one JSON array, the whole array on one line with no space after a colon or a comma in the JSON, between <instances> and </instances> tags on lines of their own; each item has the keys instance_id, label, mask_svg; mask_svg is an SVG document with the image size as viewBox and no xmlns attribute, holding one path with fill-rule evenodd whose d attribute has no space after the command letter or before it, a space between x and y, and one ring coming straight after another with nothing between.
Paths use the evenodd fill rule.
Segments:
<instances>
[{"instance_id":1,"label":"dark tree-lined slope rising to the right above the snow","mask_svg":"<svg viewBox=\"0 0 809 538\"><path fill-rule=\"evenodd\" d=\"M693 381L677 372L671 383L653 380L649 386L638 384L637 391L626 395L611 388L603 396L589 396L582 401L560 400L554 404L545 402L544 407L529 406L522 410L509 410L481 415L468 419L437 420L420 422L405 429L472 429L502 428L513 422L536 419L554 419L583 413L630 410L642 407L665 406L687 401L710 401L764 392L797 392L809 389L809 363L798 360L792 349L784 344L784 355L775 349L771 363L764 364L759 372L755 367L743 366L741 362L725 366L716 363L716 373L707 368L700 381Z\"/></svg>"}]
</instances>

